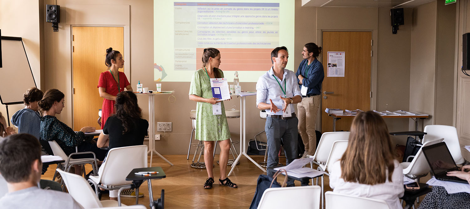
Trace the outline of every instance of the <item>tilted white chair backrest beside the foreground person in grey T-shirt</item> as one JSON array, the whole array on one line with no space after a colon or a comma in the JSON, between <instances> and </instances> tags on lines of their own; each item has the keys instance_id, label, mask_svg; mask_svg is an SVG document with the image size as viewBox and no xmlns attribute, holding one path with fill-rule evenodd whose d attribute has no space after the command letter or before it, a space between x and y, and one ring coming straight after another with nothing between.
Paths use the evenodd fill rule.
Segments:
<instances>
[{"instance_id":1,"label":"tilted white chair backrest beside the foreground person in grey T-shirt","mask_svg":"<svg viewBox=\"0 0 470 209\"><path fill-rule=\"evenodd\" d=\"M76 174L67 173L61 169L56 169L60 173L69 194L72 198L78 202L83 208L102 208L98 197L96 197L93 189L90 184L85 180L85 178L78 176Z\"/></svg>"}]
</instances>

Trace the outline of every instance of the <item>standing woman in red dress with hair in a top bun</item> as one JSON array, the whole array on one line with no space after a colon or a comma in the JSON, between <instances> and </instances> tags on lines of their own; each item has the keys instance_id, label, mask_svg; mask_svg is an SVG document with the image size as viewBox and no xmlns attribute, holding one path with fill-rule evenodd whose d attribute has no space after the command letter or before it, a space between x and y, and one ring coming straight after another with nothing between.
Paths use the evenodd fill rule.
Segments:
<instances>
[{"instance_id":1,"label":"standing woman in red dress with hair in a top bun","mask_svg":"<svg viewBox=\"0 0 470 209\"><path fill-rule=\"evenodd\" d=\"M124 67L122 54L113 50L113 48L108 48L106 49L106 59L104 62L108 66L108 70L101 73L100 80L98 81L100 96L104 98L101 110L101 129L103 129L108 117L114 113L116 95L124 91L124 88L132 91L131 84L127 77L125 77L124 72L119 72L119 68Z\"/></svg>"}]
</instances>

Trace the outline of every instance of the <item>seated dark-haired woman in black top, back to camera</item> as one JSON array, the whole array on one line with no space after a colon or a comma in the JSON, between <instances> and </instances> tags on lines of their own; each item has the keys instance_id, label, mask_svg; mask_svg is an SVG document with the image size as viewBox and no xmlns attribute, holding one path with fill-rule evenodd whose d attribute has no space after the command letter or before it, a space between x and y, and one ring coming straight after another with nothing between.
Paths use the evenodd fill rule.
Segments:
<instances>
[{"instance_id":1,"label":"seated dark-haired woman in black top, back to camera","mask_svg":"<svg viewBox=\"0 0 470 209\"><path fill-rule=\"evenodd\" d=\"M149 122L141 118L142 109L137 104L137 96L132 91L121 91L116 95L114 111L115 113L104 124L103 133L98 137L98 147L109 146L112 149L143 145ZM101 173L101 169L98 173ZM135 191L125 190L120 195L121 197L135 197ZM141 196L143 194L139 193L139 197ZM110 199L118 199L118 190L110 191Z\"/></svg>"}]
</instances>

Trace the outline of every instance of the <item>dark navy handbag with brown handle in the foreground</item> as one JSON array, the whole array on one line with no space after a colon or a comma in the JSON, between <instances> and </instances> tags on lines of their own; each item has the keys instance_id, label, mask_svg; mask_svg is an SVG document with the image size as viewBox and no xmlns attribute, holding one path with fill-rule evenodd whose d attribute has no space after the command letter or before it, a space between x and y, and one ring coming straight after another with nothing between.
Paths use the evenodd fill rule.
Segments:
<instances>
[{"instance_id":1,"label":"dark navy handbag with brown handle in the foreground","mask_svg":"<svg viewBox=\"0 0 470 209\"><path fill-rule=\"evenodd\" d=\"M282 172L286 174L286 177L284 179L284 182L282 182L282 185L280 185L276 181L276 178ZM261 201L261 197L263 196L263 193L266 189L275 187L285 187L287 185L287 178L287 171L285 169L279 169L276 173L274 173L273 177L264 174L259 175L258 181L256 183L255 195L253 196L253 201L251 201L250 209L258 208L259 201Z\"/></svg>"}]
</instances>

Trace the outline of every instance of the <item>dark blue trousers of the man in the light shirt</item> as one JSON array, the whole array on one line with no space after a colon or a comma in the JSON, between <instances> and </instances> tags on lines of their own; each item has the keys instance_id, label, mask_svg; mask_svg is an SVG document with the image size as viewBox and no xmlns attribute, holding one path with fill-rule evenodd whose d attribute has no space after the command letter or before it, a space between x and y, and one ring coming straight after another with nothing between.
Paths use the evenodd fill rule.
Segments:
<instances>
[{"instance_id":1,"label":"dark blue trousers of the man in the light shirt","mask_svg":"<svg viewBox=\"0 0 470 209\"><path fill-rule=\"evenodd\" d=\"M297 157L298 140L298 119L277 119L266 117L265 131L267 137L267 167L276 166L279 163L279 149L284 146L287 165ZM274 172L267 171L268 176L273 176ZM287 181L287 185L294 185L292 180Z\"/></svg>"}]
</instances>

